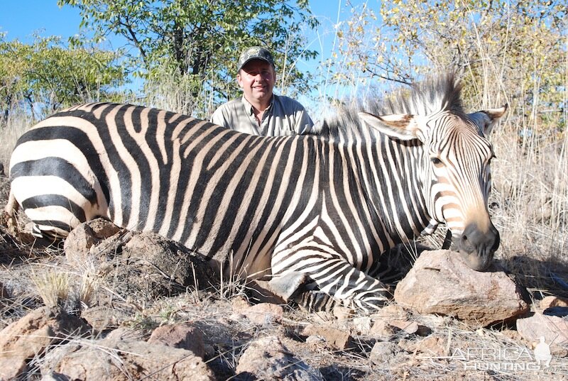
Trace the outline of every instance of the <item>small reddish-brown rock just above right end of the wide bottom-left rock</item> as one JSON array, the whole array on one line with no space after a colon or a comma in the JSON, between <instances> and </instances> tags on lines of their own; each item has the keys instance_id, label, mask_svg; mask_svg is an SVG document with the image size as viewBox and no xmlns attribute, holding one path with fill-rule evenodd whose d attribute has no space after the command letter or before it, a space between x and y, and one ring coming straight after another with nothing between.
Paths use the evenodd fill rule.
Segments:
<instances>
[{"instance_id":1,"label":"small reddish-brown rock just above right end of the wide bottom-left rock","mask_svg":"<svg viewBox=\"0 0 568 381\"><path fill-rule=\"evenodd\" d=\"M203 334L188 323L168 324L155 328L148 343L191 350L200 358L203 358L205 353Z\"/></svg>"}]
</instances>

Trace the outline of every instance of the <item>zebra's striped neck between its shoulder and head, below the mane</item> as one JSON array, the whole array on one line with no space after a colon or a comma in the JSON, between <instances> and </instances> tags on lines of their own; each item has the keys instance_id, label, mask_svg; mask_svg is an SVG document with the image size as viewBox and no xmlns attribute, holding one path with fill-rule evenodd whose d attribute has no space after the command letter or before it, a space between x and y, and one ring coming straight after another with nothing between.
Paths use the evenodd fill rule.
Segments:
<instances>
[{"instance_id":1,"label":"zebra's striped neck between its shoulder and head, below the mane","mask_svg":"<svg viewBox=\"0 0 568 381\"><path fill-rule=\"evenodd\" d=\"M330 186L345 189L342 194L351 197L361 214L368 211L370 222L388 245L435 230L420 176L424 153L419 143L359 136L354 142L329 145L335 154L329 156L334 159L327 162L325 171L332 177Z\"/></svg>"}]
</instances>

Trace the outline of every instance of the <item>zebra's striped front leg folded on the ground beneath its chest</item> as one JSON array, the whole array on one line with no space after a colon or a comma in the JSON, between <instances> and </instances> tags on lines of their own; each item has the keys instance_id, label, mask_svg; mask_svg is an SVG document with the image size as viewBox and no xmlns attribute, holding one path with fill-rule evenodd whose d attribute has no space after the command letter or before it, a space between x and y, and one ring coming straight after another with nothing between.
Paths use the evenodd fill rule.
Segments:
<instances>
[{"instance_id":1,"label":"zebra's striped front leg folded on the ground beneath its chest","mask_svg":"<svg viewBox=\"0 0 568 381\"><path fill-rule=\"evenodd\" d=\"M378 309L392 299L390 290L382 282L356 269L338 255L297 250L285 255L285 258L275 254L272 262L274 277L286 277L293 272L307 275L308 287L312 289L298 289L291 298L307 309L317 306L327 309L332 301L325 295L365 312Z\"/></svg>"}]
</instances>

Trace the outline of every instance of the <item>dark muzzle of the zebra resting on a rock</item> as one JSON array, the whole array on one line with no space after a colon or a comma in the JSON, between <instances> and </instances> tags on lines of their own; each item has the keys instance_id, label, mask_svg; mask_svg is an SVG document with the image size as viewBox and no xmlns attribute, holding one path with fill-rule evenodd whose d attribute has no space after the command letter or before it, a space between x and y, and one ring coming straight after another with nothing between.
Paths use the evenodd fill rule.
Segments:
<instances>
[{"instance_id":1,"label":"dark muzzle of the zebra resting on a rock","mask_svg":"<svg viewBox=\"0 0 568 381\"><path fill-rule=\"evenodd\" d=\"M471 269L484 271L491 265L500 241L493 223L489 224L487 231L481 231L475 223L470 223L461 236L454 238L454 245Z\"/></svg>"}]
</instances>

